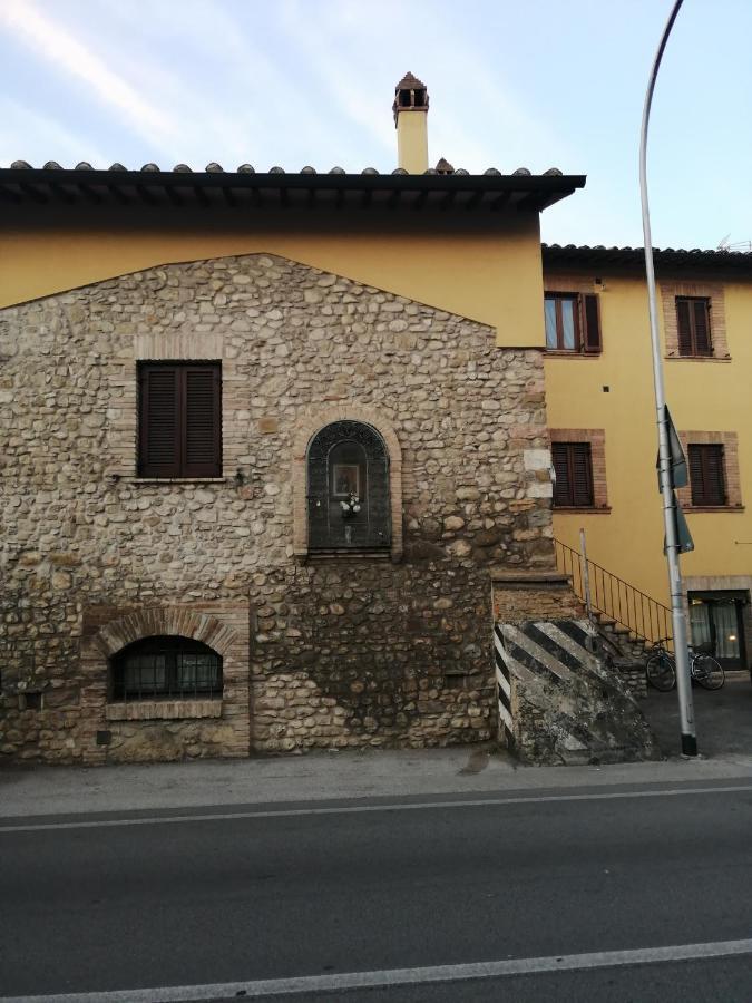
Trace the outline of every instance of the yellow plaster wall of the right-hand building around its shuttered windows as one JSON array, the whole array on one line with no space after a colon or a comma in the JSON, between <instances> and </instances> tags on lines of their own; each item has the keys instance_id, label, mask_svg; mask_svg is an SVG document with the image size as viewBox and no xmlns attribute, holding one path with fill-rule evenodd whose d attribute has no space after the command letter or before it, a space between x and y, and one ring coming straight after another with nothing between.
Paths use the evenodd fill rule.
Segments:
<instances>
[{"instance_id":1,"label":"yellow plaster wall of the right-hand building around its shuttered windows","mask_svg":"<svg viewBox=\"0 0 752 1003\"><path fill-rule=\"evenodd\" d=\"M604 282L603 354L548 356L545 369L549 426L606 431L612 512L555 513L554 533L578 547L579 527L585 527L594 561L667 603L647 295L638 279ZM686 576L752 574L752 545L738 543L752 542L752 283L725 283L725 309L730 362L664 361L666 399L677 429L738 432L746 506L738 513L687 514L695 551L682 557Z\"/></svg>"}]
</instances>

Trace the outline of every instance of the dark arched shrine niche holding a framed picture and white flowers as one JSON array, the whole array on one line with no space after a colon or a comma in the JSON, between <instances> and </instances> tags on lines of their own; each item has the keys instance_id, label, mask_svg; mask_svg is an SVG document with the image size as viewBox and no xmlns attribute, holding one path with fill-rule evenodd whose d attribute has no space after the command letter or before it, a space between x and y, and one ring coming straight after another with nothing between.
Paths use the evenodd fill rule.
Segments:
<instances>
[{"instance_id":1,"label":"dark arched shrine niche holding a framed picture and white flowers","mask_svg":"<svg viewBox=\"0 0 752 1003\"><path fill-rule=\"evenodd\" d=\"M307 451L309 549L388 549L389 454L361 421L334 421Z\"/></svg>"}]
</instances>

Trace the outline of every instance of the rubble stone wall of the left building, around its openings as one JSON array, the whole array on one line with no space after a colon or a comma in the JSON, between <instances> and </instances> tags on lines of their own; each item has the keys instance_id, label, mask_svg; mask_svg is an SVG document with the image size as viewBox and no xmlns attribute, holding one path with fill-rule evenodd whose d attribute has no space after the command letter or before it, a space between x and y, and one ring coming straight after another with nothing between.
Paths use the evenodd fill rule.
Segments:
<instances>
[{"instance_id":1,"label":"rubble stone wall of the left building, around its openings","mask_svg":"<svg viewBox=\"0 0 752 1003\"><path fill-rule=\"evenodd\" d=\"M0 312L0 753L96 763L494 737L489 567L554 567L541 353L494 342L263 254ZM222 362L223 478L137 477L141 359ZM294 532L301 430L338 409L399 444L392 561L322 562ZM211 701L159 718L154 702L108 702L108 659L155 632L216 645L221 717Z\"/></svg>"}]
</instances>

